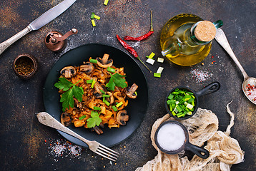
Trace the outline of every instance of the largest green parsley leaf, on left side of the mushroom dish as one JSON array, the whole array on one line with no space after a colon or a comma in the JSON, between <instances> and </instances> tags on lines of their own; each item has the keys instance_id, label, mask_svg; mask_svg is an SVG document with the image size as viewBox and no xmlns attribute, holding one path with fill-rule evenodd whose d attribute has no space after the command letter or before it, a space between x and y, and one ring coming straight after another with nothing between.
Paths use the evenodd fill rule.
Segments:
<instances>
[{"instance_id":1,"label":"largest green parsley leaf, on left side of the mushroom dish","mask_svg":"<svg viewBox=\"0 0 256 171\"><path fill-rule=\"evenodd\" d=\"M60 100L60 102L62 102L62 111L65 111L69 106L74 108L74 98L77 98L79 102L82 101L82 96L84 94L83 88L76 86L72 82L68 81L67 78L59 78L59 82L55 83L54 86L59 88L59 90L65 91L61 94Z\"/></svg>"}]
</instances>

